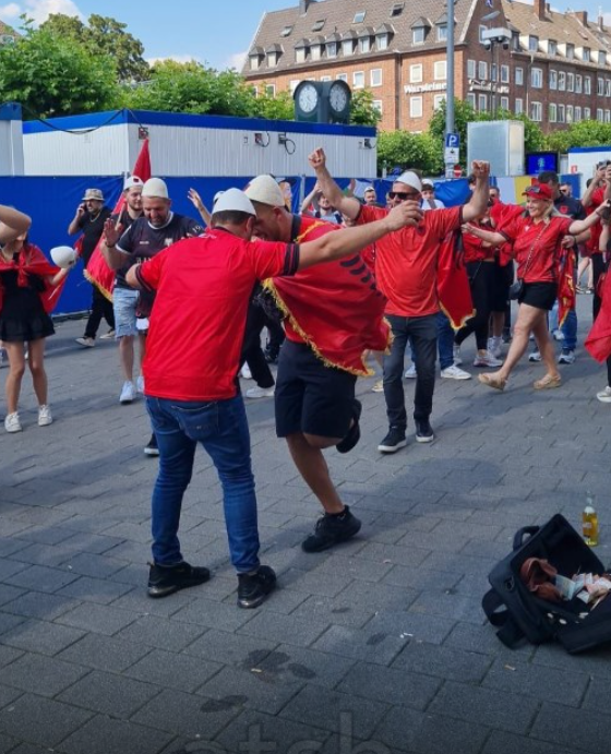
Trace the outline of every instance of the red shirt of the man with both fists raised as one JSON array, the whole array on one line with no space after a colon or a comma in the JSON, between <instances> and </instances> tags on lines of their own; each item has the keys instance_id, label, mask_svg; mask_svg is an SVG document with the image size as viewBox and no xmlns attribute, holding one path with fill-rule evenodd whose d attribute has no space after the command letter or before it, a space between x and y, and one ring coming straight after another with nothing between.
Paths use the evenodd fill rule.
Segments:
<instances>
[{"instance_id":1,"label":"red shirt of the man with both fists raised","mask_svg":"<svg viewBox=\"0 0 611 754\"><path fill-rule=\"evenodd\" d=\"M363 205L357 223L388 214ZM438 252L443 239L460 227L463 207L426 212L417 227L406 227L375 241L375 279L388 299L386 314L426 316L439 311Z\"/></svg>"}]
</instances>

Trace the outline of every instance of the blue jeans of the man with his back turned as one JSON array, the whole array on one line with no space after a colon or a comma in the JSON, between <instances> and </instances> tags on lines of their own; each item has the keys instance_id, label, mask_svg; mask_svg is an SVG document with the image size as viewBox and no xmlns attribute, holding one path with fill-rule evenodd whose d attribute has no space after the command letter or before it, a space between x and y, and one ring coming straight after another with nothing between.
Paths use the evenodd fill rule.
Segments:
<instances>
[{"instance_id":1,"label":"blue jeans of the man with his back turned","mask_svg":"<svg viewBox=\"0 0 611 754\"><path fill-rule=\"evenodd\" d=\"M256 498L242 396L213 402L148 397L146 408L159 445L159 474L152 501L155 563L173 565L182 561L178 539L180 510L193 472L195 447L201 443L223 487L231 563L238 573L256 570Z\"/></svg>"}]
</instances>

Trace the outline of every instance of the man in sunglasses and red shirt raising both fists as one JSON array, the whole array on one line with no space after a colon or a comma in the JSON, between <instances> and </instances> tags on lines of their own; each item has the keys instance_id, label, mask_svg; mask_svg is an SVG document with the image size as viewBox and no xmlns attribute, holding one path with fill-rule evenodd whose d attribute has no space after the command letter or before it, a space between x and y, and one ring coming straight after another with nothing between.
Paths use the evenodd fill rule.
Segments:
<instances>
[{"instance_id":1,"label":"man in sunglasses and red shirt raising both fists","mask_svg":"<svg viewBox=\"0 0 611 754\"><path fill-rule=\"evenodd\" d=\"M323 149L310 157L316 179L332 204L358 224L384 217L387 210L368 207L345 196L326 168ZM483 216L488 207L490 166L474 163L476 187L468 204L424 213L417 226L391 234L375 244L375 276L387 298L386 316L393 328L391 355L384 357L384 397L388 433L378 450L395 453L407 444L407 412L403 387L405 349L414 342L418 352L414 421L417 442L434 439L429 417L433 407L436 358L438 267L442 241L462 223ZM390 199L394 206L405 201L420 202L422 184L417 173L407 170L393 183ZM444 244L447 246L447 244Z\"/></svg>"}]
</instances>

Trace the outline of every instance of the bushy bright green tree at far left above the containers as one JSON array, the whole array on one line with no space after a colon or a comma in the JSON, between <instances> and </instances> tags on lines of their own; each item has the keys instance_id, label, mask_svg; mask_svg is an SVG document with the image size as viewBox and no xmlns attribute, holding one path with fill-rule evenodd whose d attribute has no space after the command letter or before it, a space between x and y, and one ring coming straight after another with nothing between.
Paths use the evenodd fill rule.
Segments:
<instances>
[{"instance_id":1,"label":"bushy bright green tree at far left above the containers","mask_svg":"<svg viewBox=\"0 0 611 754\"><path fill-rule=\"evenodd\" d=\"M24 106L24 117L50 118L115 109L119 91L113 62L105 55L32 27L0 47L0 96Z\"/></svg>"}]
</instances>

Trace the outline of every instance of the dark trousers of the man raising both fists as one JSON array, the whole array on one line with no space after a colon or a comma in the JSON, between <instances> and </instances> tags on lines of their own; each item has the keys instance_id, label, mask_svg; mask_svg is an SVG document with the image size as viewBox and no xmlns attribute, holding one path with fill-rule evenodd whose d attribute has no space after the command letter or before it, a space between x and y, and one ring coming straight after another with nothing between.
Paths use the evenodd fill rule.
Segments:
<instances>
[{"instance_id":1,"label":"dark trousers of the man raising both fists","mask_svg":"<svg viewBox=\"0 0 611 754\"><path fill-rule=\"evenodd\" d=\"M393 328L391 355L384 356L384 398L388 426L404 430L407 427L403 372L405 349L411 339L418 352L416 360L416 393L414 396L414 418L428 419L433 410L435 388L435 359L438 354L438 315L397 316L387 314Z\"/></svg>"}]
</instances>

